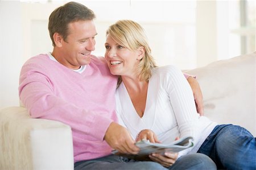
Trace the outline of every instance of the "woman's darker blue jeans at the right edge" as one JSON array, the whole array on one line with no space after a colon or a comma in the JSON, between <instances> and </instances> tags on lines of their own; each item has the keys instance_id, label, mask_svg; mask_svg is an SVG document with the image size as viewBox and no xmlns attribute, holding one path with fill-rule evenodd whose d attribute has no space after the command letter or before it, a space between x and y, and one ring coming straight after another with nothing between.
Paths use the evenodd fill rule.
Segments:
<instances>
[{"instance_id":1,"label":"woman's darker blue jeans at the right edge","mask_svg":"<svg viewBox=\"0 0 256 170\"><path fill-rule=\"evenodd\" d=\"M199 148L218 169L256 169L255 138L245 128L218 125Z\"/></svg>"}]
</instances>

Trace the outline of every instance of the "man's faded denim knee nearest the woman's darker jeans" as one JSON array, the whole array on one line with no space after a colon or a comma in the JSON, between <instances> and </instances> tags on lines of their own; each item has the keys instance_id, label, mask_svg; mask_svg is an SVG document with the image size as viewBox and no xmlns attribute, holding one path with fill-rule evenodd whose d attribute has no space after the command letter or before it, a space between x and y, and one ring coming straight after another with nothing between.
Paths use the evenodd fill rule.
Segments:
<instances>
[{"instance_id":1,"label":"man's faded denim knee nearest the woman's darker jeans","mask_svg":"<svg viewBox=\"0 0 256 170\"><path fill-rule=\"evenodd\" d=\"M188 170L199 170L217 169L216 164L210 157L204 154L188 154L181 156L176 162L168 169L188 169Z\"/></svg>"}]
</instances>

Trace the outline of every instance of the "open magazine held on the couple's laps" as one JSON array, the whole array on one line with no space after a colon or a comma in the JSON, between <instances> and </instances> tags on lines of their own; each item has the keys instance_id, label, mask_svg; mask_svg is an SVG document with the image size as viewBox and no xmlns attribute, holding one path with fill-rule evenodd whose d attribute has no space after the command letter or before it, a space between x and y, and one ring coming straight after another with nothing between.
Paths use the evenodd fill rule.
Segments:
<instances>
[{"instance_id":1,"label":"open magazine held on the couple's laps","mask_svg":"<svg viewBox=\"0 0 256 170\"><path fill-rule=\"evenodd\" d=\"M193 144L193 138L189 136L189 137L181 138L179 140L175 140L170 144L150 143L148 140L141 140L135 143L135 145L141 149L137 155L122 154L117 150L113 150L112 154L128 157L130 159L135 159L135 160L150 160L148 157L148 155L150 154L157 153L157 154L163 155L164 152L175 153L175 152L185 150L189 147L192 147L194 144Z\"/></svg>"}]
</instances>

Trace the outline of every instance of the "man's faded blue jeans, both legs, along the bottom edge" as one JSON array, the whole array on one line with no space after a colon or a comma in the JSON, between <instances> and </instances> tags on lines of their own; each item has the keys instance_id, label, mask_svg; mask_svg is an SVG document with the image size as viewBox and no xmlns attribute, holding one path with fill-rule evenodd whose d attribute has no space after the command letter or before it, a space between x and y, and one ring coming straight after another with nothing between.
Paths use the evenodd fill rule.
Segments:
<instances>
[{"instance_id":1,"label":"man's faded blue jeans, both legs, along the bottom edge","mask_svg":"<svg viewBox=\"0 0 256 170\"><path fill-rule=\"evenodd\" d=\"M168 168L155 163L154 161L136 161L126 157L109 155L98 159L84 160L75 163L75 170L78 169L216 169L214 162L204 154L188 154L181 156Z\"/></svg>"}]
</instances>

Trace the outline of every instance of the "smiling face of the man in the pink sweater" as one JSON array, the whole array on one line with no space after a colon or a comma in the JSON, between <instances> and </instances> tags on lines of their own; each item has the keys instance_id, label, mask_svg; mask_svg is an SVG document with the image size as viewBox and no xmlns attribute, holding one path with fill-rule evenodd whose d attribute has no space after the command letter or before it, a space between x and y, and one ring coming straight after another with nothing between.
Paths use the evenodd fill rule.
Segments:
<instances>
[{"instance_id":1,"label":"smiling face of the man in the pink sweater","mask_svg":"<svg viewBox=\"0 0 256 170\"><path fill-rule=\"evenodd\" d=\"M79 69L81 65L90 63L91 52L94 51L97 35L93 20L79 20L69 23L68 36L61 44L61 64L71 69Z\"/></svg>"}]
</instances>

